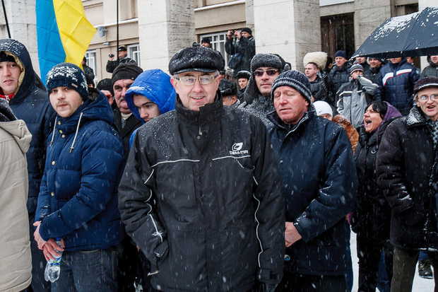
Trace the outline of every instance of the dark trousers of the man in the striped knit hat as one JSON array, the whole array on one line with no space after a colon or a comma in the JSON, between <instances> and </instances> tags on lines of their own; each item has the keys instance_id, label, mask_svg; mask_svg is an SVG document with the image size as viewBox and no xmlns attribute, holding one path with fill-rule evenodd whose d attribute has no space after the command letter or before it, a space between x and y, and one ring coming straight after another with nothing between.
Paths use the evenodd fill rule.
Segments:
<instances>
[{"instance_id":1,"label":"dark trousers of the man in the striped knit hat","mask_svg":"<svg viewBox=\"0 0 438 292\"><path fill-rule=\"evenodd\" d=\"M314 276L295 274L283 270L283 279L276 288L276 292L345 292L347 282L345 275L341 276Z\"/></svg>"}]
</instances>

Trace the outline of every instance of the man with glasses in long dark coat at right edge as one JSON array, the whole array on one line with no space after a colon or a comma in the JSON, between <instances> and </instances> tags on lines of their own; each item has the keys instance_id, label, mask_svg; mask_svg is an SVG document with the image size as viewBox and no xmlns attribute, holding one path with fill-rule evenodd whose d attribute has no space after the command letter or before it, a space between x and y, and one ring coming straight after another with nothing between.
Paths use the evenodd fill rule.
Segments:
<instances>
[{"instance_id":1,"label":"man with glasses in long dark coat at right edge","mask_svg":"<svg viewBox=\"0 0 438 292\"><path fill-rule=\"evenodd\" d=\"M388 126L377 156L378 183L392 209L391 291L401 292L412 290L420 250L438 269L438 78L421 78L413 91L416 105Z\"/></svg>"}]
</instances>

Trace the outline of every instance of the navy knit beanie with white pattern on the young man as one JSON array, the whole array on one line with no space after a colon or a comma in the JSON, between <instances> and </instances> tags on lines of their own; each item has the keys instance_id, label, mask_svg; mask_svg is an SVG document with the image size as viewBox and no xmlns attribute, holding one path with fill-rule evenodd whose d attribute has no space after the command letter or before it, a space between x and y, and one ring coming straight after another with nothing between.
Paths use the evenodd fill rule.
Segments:
<instances>
[{"instance_id":1,"label":"navy knit beanie with white pattern on the young man","mask_svg":"<svg viewBox=\"0 0 438 292\"><path fill-rule=\"evenodd\" d=\"M50 90L58 86L67 86L76 90L84 101L88 99L85 74L75 64L61 63L50 69L46 77L47 95L50 97Z\"/></svg>"}]
</instances>

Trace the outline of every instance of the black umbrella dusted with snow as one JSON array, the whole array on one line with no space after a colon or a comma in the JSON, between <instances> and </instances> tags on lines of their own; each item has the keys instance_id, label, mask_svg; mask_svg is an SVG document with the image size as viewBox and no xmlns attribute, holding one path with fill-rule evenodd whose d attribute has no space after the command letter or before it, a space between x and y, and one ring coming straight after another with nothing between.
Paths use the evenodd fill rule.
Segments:
<instances>
[{"instance_id":1,"label":"black umbrella dusted with snow","mask_svg":"<svg viewBox=\"0 0 438 292\"><path fill-rule=\"evenodd\" d=\"M369 35L353 57L414 57L438 54L438 7L389 18Z\"/></svg>"}]
</instances>

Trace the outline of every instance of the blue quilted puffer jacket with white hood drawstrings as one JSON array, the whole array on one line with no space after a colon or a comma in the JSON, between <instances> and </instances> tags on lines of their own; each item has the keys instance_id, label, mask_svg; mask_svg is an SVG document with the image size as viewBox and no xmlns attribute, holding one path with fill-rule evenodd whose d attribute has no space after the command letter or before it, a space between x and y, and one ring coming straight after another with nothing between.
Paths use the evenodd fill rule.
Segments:
<instances>
[{"instance_id":1,"label":"blue quilted puffer jacket with white hood drawstrings","mask_svg":"<svg viewBox=\"0 0 438 292\"><path fill-rule=\"evenodd\" d=\"M111 107L97 90L73 115L57 117L35 214L44 240L62 237L68 251L122 241L117 187L124 148L113 124Z\"/></svg>"}]
</instances>

